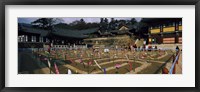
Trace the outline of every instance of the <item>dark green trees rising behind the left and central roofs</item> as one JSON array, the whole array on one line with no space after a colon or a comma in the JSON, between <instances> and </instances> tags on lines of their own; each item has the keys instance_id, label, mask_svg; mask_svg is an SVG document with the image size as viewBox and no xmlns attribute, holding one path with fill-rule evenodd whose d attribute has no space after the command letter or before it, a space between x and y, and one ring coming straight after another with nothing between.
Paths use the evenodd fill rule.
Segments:
<instances>
[{"instance_id":1,"label":"dark green trees rising behind the left and central roofs","mask_svg":"<svg viewBox=\"0 0 200 92\"><path fill-rule=\"evenodd\" d=\"M122 26L129 26L137 24L135 18L131 18L131 20L117 20L114 18L100 18L100 22L85 22L84 19L75 20L72 23L63 23L61 18L39 18L31 23L35 27L43 28L43 29L53 29L53 27L66 28L66 29L74 29L74 30L83 30L89 28L99 28L99 30L118 30Z\"/></svg>"}]
</instances>

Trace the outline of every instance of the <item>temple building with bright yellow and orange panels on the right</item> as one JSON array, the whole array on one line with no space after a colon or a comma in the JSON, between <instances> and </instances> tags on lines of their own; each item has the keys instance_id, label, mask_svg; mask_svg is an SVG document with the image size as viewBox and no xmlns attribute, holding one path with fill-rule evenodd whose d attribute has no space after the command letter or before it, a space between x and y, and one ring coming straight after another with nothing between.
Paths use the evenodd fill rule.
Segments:
<instances>
[{"instance_id":1,"label":"temple building with bright yellow and orange panels on the right","mask_svg":"<svg viewBox=\"0 0 200 92\"><path fill-rule=\"evenodd\" d=\"M149 44L181 44L182 18L144 18Z\"/></svg>"}]
</instances>

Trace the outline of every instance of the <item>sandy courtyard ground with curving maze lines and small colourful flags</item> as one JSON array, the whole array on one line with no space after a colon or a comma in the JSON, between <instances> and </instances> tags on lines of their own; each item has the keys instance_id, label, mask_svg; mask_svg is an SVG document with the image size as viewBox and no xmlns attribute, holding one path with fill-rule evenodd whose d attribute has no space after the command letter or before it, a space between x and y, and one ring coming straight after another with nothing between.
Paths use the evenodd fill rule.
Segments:
<instances>
[{"instance_id":1,"label":"sandy courtyard ground with curving maze lines and small colourful flags","mask_svg":"<svg viewBox=\"0 0 200 92\"><path fill-rule=\"evenodd\" d=\"M175 49L23 49L19 74L162 74L170 70ZM176 74L182 73L182 54Z\"/></svg>"}]
</instances>

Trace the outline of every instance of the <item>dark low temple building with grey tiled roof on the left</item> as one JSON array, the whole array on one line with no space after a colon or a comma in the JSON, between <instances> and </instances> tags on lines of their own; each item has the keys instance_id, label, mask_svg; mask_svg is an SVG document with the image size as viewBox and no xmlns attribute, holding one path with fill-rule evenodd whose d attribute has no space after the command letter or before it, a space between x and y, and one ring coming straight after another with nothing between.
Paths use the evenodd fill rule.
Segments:
<instances>
[{"instance_id":1,"label":"dark low temple building with grey tiled roof on the left","mask_svg":"<svg viewBox=\"0 0 200 92\"><path fill-rule=\"evenodd\" d=\"M85 30L70 30L55 27L53 30L35 28L31 24L18 24L19 48L43 48L45 44L53 45L82 45L83 39L90 33L97 32L98 28Z\"/></svg>"}]
</instances>

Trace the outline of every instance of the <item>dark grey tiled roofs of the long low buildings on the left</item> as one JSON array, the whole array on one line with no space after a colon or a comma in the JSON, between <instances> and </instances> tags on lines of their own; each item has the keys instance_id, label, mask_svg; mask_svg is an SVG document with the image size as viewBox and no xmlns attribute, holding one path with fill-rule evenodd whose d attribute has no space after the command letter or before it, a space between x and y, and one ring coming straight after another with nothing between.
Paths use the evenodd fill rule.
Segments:
<instances>
[{"instance_id":1,"label":"dark grey tiled roofs of the long low buildings on the left","mask_svg":"<svg viewBox=\"0 0 200 92\"><path fill-rule=\"evenodd\" d=\"M30 24L19 24L19 32L27 32L33 34L39 34L40 36L48 36L50 30L44 30L35 28ZM84 29L84 30L72 30L66 28L55 27L51 35L66 37L66 38L87 38L88 34L97 32L98 28Z\"/></svg>"}]
</instances>

